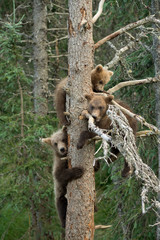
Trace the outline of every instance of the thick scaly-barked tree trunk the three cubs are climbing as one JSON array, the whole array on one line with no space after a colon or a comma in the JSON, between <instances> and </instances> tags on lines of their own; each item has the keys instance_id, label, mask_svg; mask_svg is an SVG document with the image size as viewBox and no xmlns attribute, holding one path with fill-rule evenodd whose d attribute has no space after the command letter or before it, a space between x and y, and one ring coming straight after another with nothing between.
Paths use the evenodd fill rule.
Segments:
<instances>
[{"instance_id":1,"label":"thick scaly-barked tree trunk the three cubs are climbing","mask_svg":"<svg viewBox=\"0 0 160 240\"><path fill-rule=\"evenodd\" d=\"M87 24L80 26L85 18ZM93 65L92 0L69 0L69 78L67 109L71 125L68 127L69 159L72 167L85 169L82 178L68 184L67 222L65 239L94 238L95 181L93 171L94 145L77 150L80 132L87 129L87 121L79 120L87 106L85 94L91 91Z\"/></svg>"}]
</instances>

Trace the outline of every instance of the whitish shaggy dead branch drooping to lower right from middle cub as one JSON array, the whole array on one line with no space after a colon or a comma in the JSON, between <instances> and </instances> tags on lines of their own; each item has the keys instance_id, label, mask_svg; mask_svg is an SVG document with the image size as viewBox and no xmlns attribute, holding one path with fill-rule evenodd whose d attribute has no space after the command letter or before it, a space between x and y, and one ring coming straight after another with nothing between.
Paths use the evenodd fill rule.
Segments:
<instances>
[{"instance_id":1,"label":"whitish shaggy dead branch drooping to lower right from middle cub","mask_svg":"<svg viewBox=\"0 0 160 240\"><path fill-rule=\"evenodd\" d=\"M101 134L101 137L104 141L106 141L108 138L107 131L99 129L97 126L95 126L94 119L87 111L83 111L83 115L89 119L88 128L90 128L90 124L92 124L92 131L95 132L95 128L96 134L97 132L101 131L103 133ZM142 159L138 155L135 136L132 128L129 126L127 118L121 112L121 110L114 105L109 105L107 115L111 119L113 129L111 132L111 139L109 139L109 141L111 141L112 145L121 152L128 165L131 168L134 167L136 177L142 181L142 212L146 213L150 208L153 207L160 209L160 203L155 199L150 200L147 196L149 192L158 193L160 191L160 181L156 177L153 170L147 164L143 163ZM150 206L146 208L145 204Z\"/></svg>"}]
</instances>

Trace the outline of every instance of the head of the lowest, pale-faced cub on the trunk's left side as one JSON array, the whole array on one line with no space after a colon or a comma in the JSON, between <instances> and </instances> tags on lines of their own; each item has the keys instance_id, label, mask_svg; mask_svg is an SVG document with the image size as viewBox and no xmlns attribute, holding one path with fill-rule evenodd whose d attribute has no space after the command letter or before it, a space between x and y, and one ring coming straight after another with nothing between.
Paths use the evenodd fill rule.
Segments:
<instances>
[{"instance_id":1,"label":"head of the lowest, pale-faced cub on the trunk's left side","mask_svg":"<svg viewBox=\"0 0 160 240\"><path fill-rule=\"evenodd\" d=\"M42 142L49 144L60 157L65 157L68 152L66 128L53 133L49 138L42 138Z\"/></svg>"}]
</instances>

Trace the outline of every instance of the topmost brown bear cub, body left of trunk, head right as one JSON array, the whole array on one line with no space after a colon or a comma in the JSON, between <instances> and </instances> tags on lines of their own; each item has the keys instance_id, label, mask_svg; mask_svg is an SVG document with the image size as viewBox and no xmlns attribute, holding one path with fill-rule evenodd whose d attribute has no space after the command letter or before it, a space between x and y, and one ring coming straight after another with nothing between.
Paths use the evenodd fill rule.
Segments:
<instances>
[{"instance_id":1,"label":"topmost brown bear cub, body left of trunk, head right","mask_svg":"<svg viewBox=\"0 0 160 240\"><path fill-rule=\"evenodd\" d=\"M112 71L108 71L102 65L97 65L95 69L91 72L91 82L92 89L94 92L102 92L104 90L105 84L107 84L113 75ZM64 78L56 86L54 93L55 109L57 112L57 117L59 119L60 125L68 125L69 122L64 114L66 111L66 91L65 86L67 83L67 78Z\"/></svg>"}]
</instances>

